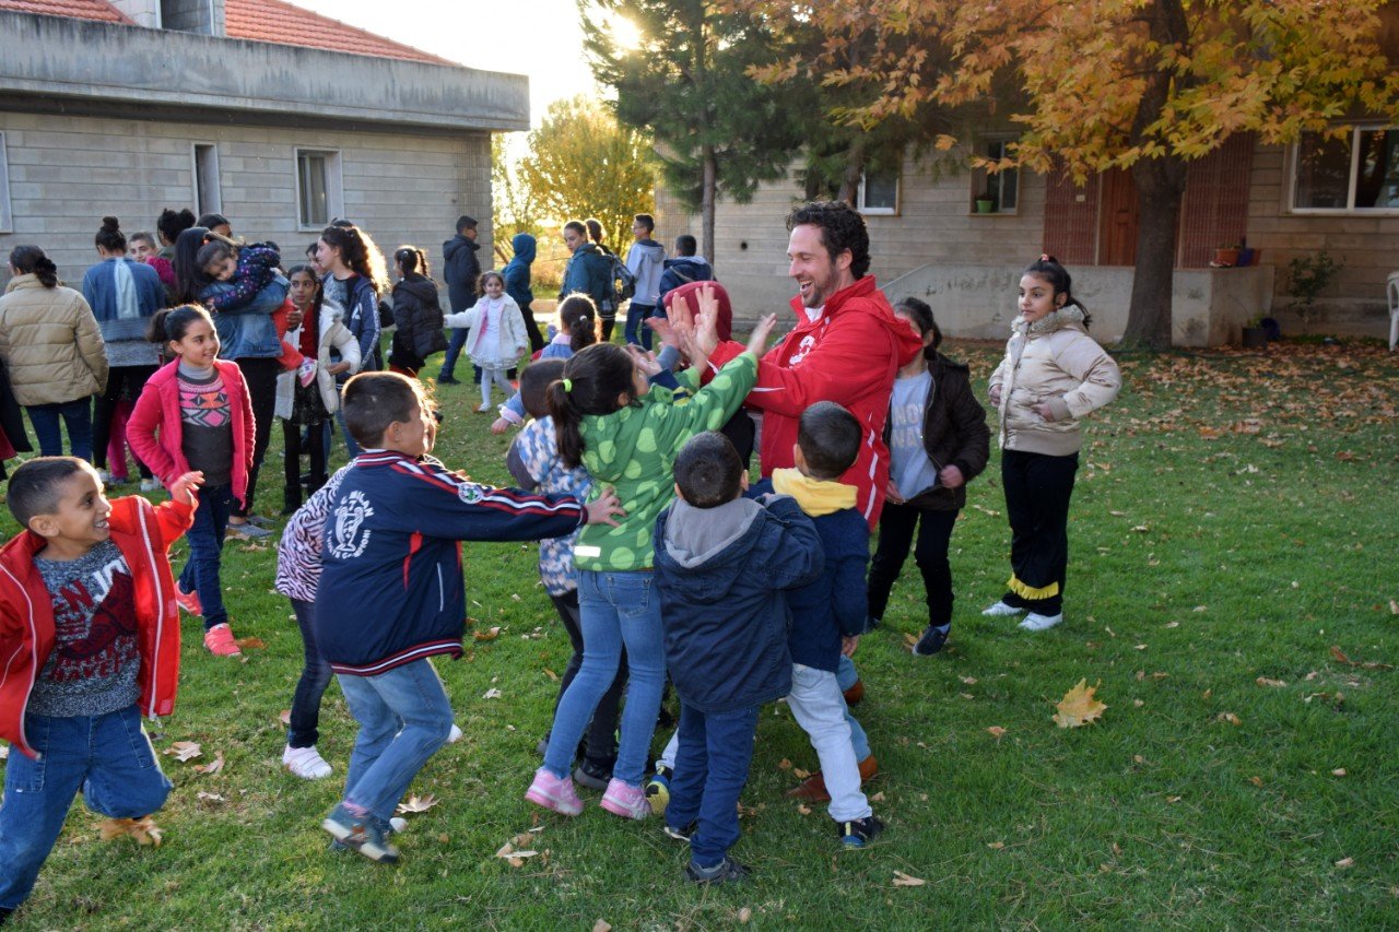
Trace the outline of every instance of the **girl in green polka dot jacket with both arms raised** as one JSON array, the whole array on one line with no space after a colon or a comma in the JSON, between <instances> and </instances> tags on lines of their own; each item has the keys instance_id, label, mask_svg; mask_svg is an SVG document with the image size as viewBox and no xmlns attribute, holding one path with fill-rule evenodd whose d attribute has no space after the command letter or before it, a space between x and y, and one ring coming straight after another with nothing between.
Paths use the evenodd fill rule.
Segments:
<instances>
[{"instance_id":1,"label":"girl in green polka dot jacket with both arms raised","mask_svg":"<svg viewBox=\"0 0 1399 932\"><path fill-rule=\"evenodd\" d=\"M583 665L558 702L544 765L525 795L567 816L583 809L569 768L593 709L617 675L624 644L631 679L602 807L625 819L651 814L642 775L666 679L652 532L674 498L677 452L695 434L718 430L739 409L757 381L758 357L776 323L771 315L760 322L746 351L700 388L700 374L708 367L704 347L716 341L718 313L712 290L700 291L697 298L694 329L677 333L690 361L690 369L679 375L681 389L693 393L688 402L679 403L677 392L648 383L658 368L655 357L611 343L589 346L569 358L564 378L548 388L564 463L588 469L590 498L616 487L625 509L617 526L588 528L574 547Z\"/></svg>"}]
</instances>

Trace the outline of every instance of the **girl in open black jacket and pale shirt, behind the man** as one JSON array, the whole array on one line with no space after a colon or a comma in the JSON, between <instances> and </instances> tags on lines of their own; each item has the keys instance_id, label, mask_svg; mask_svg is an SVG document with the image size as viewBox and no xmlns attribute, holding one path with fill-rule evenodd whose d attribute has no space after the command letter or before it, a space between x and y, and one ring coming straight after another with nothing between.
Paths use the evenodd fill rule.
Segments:
<instances>
[{"instance_id":1,"label":"girl in open black jacket and pale shirt, behind the man","mask_svg":"<svg viewBox=\"0 0 1399 932\"><path fill-rule=\"evenodd\" d=\"M894 315L923 340L923 354L898 371L884 427L891 466L888 497L879 522L879 549L870 564L869 614L879 624L908 549L928 591L928 628L914 654L943 649L953 621L953 572L947 549L957 514L967 504L967 483L986 467L990 430L986 411L971 390L967 365L937 351L943 334L932 308L904 298Z\"/></svg>"}]
</instances>

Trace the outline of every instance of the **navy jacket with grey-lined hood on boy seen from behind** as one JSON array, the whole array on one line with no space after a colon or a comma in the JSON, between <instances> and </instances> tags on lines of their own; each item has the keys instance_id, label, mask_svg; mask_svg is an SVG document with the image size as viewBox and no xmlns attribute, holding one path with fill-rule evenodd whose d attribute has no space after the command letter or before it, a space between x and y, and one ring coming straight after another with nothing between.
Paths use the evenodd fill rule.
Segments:
<instances>
[{"instance_id":1,"label":"navy jacket with grey-lined hood on boy seen from behind","mask_svg":"<svg viewBox=\"0 0 1399 932\"><path fill-rule=\"evenodd\" d=\"M676 501L656 521L656 588L666 669L701 712L748 708L792 689L783 589L824 564L796 501L737 498L716 508Z\"/></svg>"}]
</instances>

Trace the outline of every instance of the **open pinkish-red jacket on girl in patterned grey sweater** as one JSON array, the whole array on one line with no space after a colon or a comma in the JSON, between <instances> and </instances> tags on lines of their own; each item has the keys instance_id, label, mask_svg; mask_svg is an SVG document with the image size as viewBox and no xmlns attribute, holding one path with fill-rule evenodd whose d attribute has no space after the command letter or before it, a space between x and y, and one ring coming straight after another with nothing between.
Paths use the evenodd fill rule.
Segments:
<instances>
[{"instance_id":1,"label":"open pinkish-red jacket on girl in patterned grey sweater","mask_svg":"<svg viewBox=\"0 0 1399 932\"><path fill-rule=\"evenodd\" d=\"M214 368L218 369L218 378L228 392L228 407L234 420L234 498L246 502L248 472L253 467L253 406L236 362L214 360ZM176 358L147 379L141 397L136 400L132 417L126 423L126 441L168 488L189 472L189 460L185 459L182 448L183 439L185 423L179 414Z\"/></svg>"}]
</instances>

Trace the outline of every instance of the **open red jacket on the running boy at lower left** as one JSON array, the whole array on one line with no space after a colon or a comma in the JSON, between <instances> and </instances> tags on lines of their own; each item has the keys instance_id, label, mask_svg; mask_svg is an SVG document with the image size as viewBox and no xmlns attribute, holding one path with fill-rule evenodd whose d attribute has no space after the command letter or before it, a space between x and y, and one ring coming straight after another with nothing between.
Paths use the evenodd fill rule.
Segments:
<instances>
[{"instance_id":1,"label":"open red jacket on the running boy at lower left","mask_svg":"<svg viewBox=\"0 0 1399 932\"><path fill-rule=\"evenodd\" d=\"M112 543L130 567L136 589L137 708L151 718L175 708L179 607L168 550L193 522L194 508L185 502L151 505L137 495L112 500ZM35 751L25 740L24 711L55 642L53 596L34 565L43 547L43 537L25 530L0 550L0 737L29 757Z\"/></svg>"}]
</instances>

